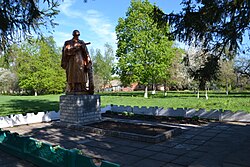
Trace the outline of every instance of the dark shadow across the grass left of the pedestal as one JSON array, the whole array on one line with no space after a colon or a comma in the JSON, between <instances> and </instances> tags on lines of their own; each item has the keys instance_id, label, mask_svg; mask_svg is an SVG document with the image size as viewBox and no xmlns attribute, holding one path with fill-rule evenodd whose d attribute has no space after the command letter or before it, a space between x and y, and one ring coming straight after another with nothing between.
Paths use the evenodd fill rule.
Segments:
<instances>
[{"instance_id":1,"label":"dark shadow across the grass left of the pedestal","mask_svg":"<svg viewBox=\"0 0 250 167\"><path fill-rule=\"evenodd\" d=\"M0 108L0 115L37 113L44 111L58 111L59 102L49 100L10 100Z\"/></svg>"}]
</instances>

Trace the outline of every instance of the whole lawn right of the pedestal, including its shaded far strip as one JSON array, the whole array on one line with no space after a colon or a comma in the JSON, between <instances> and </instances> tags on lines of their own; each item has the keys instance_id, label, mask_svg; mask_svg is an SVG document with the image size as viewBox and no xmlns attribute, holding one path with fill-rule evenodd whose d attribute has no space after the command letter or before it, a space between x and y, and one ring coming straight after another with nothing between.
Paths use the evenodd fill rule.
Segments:
<instances>
[{"instance_id":1,"label":"whole lawn right of the pedestal, including its shaded far strip","mask_svg":"<svg viewBox=\"0 0 250 167\"><path fill-rule=\"evenodd\" d=\"M143 92L112 92L102 93L102 102L105 104L128 106L158 106L164 108L204 108L206 110L222 109L231 111L250 112L250 92L225 92L209 91L209 99L205 99L205 92L200 91L200 98L193 91L169 91L167 97L163 92L150 94L143 98ZM118 100L119 99L119 100Z\"/></svg>"}]
</instances>

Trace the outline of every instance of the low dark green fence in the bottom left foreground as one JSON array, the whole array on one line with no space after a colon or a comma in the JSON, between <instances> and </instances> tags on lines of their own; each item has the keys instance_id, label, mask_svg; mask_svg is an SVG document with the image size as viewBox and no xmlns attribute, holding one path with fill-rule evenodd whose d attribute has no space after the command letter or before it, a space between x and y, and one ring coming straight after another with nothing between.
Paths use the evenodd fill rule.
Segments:
<instances>
[{"instance_id":1,"label":"low dark green fence in the bottom left foreground","mask_svg":"<svg viewBox=\"0 0 250 167\"><path fill-rule=\"evenodd\" d=\"M0 130L0 149L40 167L97 167L93 159L82 155L80 150L53 147L9 131ZM100 165L100 167L119 166L108 161L101 161Z\"/></svg>"}]
</instances>

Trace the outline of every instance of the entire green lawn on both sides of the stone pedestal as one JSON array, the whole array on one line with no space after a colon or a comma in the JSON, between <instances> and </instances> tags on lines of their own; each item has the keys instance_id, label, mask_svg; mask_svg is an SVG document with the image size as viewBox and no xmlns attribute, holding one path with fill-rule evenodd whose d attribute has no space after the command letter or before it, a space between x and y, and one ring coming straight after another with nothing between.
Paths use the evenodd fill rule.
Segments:
<instances>
[{"instance_id":1,"label":"entire green lawn on both sides of the stone pedestal","mask_svg":"<svg viewBox=\"0 0 250 167\"><path fill-rule=\"evenodd\" d=\"M10 115L27 112L58 111L60 95L44 96L0 96L0 115ZM204 92L197 99L192 92L169 92L167 97L162 93L143 98L143 92L101 93L102 107L114 105L147 106L164 108L204 108L223 109L231 111L250 112L250 93L209 93L206 100Z\"/></svg>"}]
</instances>

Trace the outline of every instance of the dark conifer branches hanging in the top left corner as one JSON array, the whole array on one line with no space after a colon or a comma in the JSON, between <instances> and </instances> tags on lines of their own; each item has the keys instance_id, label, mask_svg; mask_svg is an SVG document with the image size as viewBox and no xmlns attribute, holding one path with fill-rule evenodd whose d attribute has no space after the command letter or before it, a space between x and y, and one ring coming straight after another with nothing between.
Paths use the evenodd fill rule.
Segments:
<instances>
[{"instance_id":1,"label":"dark conifer branches hanging in the top left corner","mask_svg":"<svg viewBox=\"0 0 250 167\"><path fill-rule=\"evenodd\" d=\"M43 3L42 3L43 2ZM48 29L56 23L59 3L55 0L0 1L0 52L13 42L26 39L32 32L42 35L41 27Z\"/></svg>"}]
</instances>

